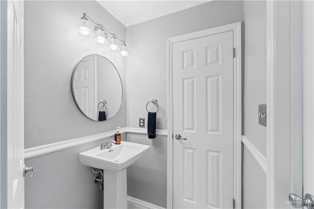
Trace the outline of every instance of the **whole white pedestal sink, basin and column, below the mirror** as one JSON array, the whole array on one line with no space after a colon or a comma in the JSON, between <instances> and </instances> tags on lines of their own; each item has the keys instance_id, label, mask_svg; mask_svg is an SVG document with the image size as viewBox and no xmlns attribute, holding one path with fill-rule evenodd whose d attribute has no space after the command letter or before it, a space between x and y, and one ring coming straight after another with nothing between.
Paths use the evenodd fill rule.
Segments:
<instances>
[{"instance_id":1,"label":"whole white pedestal sink, basin and column, below the mirror","mask_svg":"<svg viewBox=\"0 0 314 209\"><path fill-rule=\"evenodd\" d=\"M127 167L150 146L121 141L110 149L100 146L79 153L83 165L104 169L104 209L127 209Z\"/></svg>"}]
</instances>

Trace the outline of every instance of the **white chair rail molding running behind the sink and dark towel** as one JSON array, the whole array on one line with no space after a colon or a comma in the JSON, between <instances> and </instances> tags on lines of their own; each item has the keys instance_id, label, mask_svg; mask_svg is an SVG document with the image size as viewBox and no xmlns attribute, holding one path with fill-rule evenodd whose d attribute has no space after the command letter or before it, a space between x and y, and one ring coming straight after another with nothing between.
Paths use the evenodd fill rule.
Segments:
<instances>
[{"instance_id":1,"label":"white chair rail molding running behind the sink and dark towel","mask_svg":"<svg viewBox=\"0 0 314 209\"><path fill-rule=\"evenodd\" d=\"M38 147L32 147L24 150L24 158L36 157L40 155L44 155L47 153L56 152L59 150L67 149L70 147L78 146L81 144L90 143L93 141L97 141L106 137L113 136L116 130L106 131L102 133L97 133L93 135L83 136L75 139L70 139L66 141L60 141L52 144L45 144ZM147 134L147 129L138 129L138 128L122 128L120 129L120 133L139 133L139 134ZM167 130L156 130L157 135L167 135Z\"/></svg>"}]
</instances>

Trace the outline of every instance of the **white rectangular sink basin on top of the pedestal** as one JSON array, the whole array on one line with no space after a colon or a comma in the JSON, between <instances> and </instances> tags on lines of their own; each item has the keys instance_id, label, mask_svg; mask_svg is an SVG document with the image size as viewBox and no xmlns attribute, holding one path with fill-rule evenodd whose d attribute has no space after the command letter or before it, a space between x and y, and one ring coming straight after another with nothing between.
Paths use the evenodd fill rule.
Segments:
<instances>
[{"instance_id":1,"label":"white rectangular sink basin on top of the pedestal","mask_svg":"<svg viewBox=\"0 0 314 209\"><path fill-rule=\"evenodd\" d=\"M148 145L121 141L110 149L101 150L100 146L78 154L83 165L109 171L121 171L142 157L150 148Z\"/></svg>"}]
</instances>

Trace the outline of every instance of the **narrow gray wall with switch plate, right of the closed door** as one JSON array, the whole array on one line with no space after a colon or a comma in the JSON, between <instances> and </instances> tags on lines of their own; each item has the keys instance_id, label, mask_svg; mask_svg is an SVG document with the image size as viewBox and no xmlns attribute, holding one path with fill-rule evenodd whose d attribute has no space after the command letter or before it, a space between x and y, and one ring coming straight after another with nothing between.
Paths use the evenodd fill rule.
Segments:
<instances>
[{"instance_id":1,"label":"narrow gray wall with switch plate, right of the closed door","mask_svg":"<svg viewBox=\"0 0 314 209\"><path fill-rule=\"evenodd\" d=\"M266 128L258 105L266 103L266 2L244 1L244 135L266 156ZM244 148L243 208L266 208L266 175Z\"/></svg>"}]
</instances>

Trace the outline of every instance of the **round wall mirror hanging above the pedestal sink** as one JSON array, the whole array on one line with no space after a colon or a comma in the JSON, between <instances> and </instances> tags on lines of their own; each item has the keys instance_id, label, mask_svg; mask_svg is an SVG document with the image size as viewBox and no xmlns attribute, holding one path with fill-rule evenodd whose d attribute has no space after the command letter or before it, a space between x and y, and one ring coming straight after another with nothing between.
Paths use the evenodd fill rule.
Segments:
<instances>
[{"instance_id":1,"label":"round wall mirror hanging above the pedestal sink","mask_svg":"<svg viewBox=\"0 0 314 209\"><path fill-rule=\"evenodd\" d=\"M122 102L122 81L116 67L104 56L91 54L74 67L71 91L79 111L93 121L106 121Z\"/></svg>"}]
</instances>

